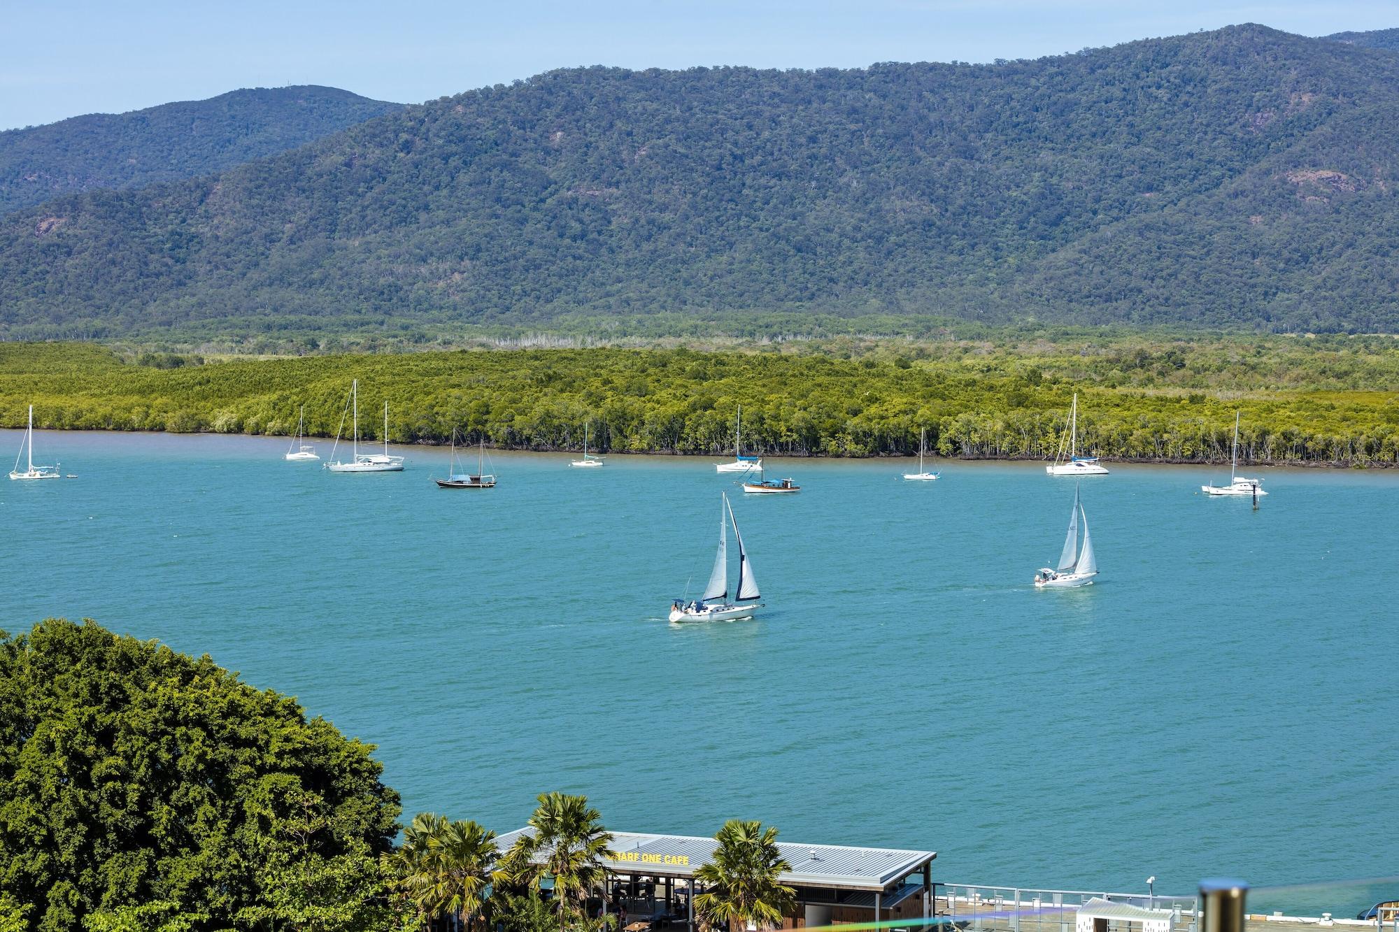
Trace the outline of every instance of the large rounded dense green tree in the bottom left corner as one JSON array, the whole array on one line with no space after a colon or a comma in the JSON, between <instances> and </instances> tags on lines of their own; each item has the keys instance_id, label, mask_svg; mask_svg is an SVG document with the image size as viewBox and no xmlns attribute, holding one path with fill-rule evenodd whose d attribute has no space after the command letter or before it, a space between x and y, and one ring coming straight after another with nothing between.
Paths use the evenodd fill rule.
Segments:
<instances>
[{"instance_id":1,"label":"large rounded dense green tree in the bottom left corner","mask_svg":"<svg viewBox=\"0 0 1399 932\"><path fill-rule=\"evenodd\" d=\"M0 904L27 932L396 928L371 751L207 656L0 634Z\"/></svg>"}]
</instances>

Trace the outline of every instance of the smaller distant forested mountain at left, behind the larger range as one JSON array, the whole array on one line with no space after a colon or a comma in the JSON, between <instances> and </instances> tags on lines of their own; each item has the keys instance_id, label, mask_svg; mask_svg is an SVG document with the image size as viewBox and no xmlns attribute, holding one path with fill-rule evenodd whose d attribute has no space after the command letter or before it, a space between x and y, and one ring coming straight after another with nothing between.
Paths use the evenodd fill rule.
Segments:
<instances>
[{"instance_id":1,"label":"smaller distant forested mountain at left, behind the larger range","mask_svg":"<svg viewBox=\"0 0 1399 932\"><path fill-rule=\"evenodd\" d=\"M94 188L197 178L399 109L333 87L252 88L0 133L0 214Z\"/></svg>"}]
</instances>

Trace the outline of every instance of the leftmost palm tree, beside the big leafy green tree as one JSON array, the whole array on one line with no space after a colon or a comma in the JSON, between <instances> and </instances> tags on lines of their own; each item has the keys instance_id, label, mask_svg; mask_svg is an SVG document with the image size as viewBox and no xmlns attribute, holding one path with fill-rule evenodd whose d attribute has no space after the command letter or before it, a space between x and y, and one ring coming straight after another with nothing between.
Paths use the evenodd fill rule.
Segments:
<instances>
[{"instance_id":1,"label":"leftmost palm tree, beside the big leafy green tree","mask_svg":"<svg viewBox=\"0 0 1399 932\"><path fill-rule=\"evenodd\" d=\"M448 914L470 929L485 908L498 855L494 831L470 820L420 813L404 830L403 847L392 862L420 917Z\"/></svg>"}]
</instances>

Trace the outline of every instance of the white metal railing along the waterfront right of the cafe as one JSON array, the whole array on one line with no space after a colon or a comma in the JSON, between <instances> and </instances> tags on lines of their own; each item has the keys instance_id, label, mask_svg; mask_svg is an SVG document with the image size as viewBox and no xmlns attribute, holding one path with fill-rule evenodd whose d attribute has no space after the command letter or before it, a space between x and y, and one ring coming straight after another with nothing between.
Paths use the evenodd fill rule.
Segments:
<instances>
[{"instance_id":1,"label":"white metal railing along the waterfront right of the cafe","mask_svg":"<svg viewBox=\"0 0 1399 932\"><path fill-rule=\"evenodd\" d=\"M1199 897L1195 896L935 883L933 911L957 928L974 932L1074 932L1079 907L1094 897L1146 910L1170 910L1171 932L1198 929ZM1112 921L1108 929L1128 932L1128 922Z\"/></svg>"}]
</instances>

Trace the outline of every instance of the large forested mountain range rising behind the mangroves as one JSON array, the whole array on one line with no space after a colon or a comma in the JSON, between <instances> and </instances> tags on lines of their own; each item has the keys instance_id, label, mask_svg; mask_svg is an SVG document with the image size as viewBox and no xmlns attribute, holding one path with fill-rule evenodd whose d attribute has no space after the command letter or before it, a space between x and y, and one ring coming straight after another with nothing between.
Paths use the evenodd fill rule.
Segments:
<instances>
[{"instance_id":1,"label":"large forested mountain range rising behind the mangroves","mask_svg":"<svg viewBox=\"0 0 1399 932\"><path fill-rule=\"evenodd\" d=\"M0 333L928 313L1399 330L1399 56L572 69L0 218Z\"/></svg>"}]
</instances>

